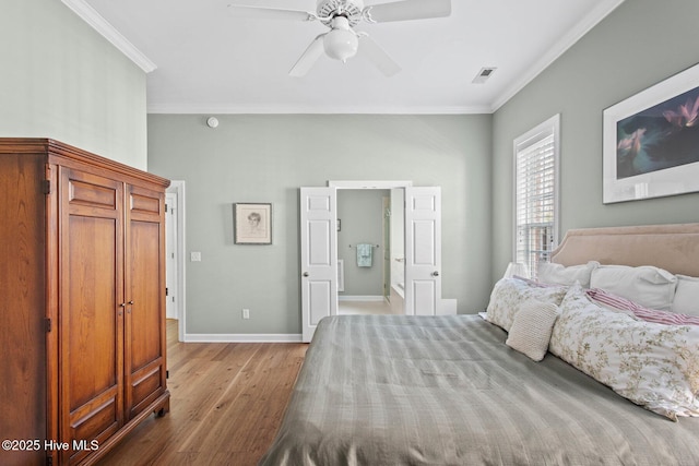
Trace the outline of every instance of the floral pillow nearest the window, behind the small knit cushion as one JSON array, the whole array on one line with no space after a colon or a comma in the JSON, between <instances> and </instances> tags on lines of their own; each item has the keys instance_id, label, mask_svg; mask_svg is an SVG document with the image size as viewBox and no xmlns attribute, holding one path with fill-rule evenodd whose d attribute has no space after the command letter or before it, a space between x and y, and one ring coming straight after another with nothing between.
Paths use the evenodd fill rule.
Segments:
<instances>
[{"instance_id":1,"label":"floral pillow nearest the window, behind the small knit cushion","mask_svg":"<svg viewBox=\"0 0 699 466\"><path fill-rule=\"evenodd\" d=\"M521 279L502 278L493 287L490 302L486 309L487 320L509 332L514 315L525 301L537 299L558 306L567 290L568 287L564 286L542 288L529 285Z\"/></svg>"}]
</instances>

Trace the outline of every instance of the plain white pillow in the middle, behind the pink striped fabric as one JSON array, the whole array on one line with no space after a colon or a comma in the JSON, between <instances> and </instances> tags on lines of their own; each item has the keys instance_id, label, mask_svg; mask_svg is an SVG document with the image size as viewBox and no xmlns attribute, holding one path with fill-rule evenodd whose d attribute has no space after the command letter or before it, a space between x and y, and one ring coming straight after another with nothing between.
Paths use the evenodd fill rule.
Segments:
<instances>
[{"instance_id":1,"label":"plain white pillow in the middle, behind the pink striped fabric","mask_svg":"<svg viewBox=\"0 0 699 466\"><path fill-rule=\"evenodd\" d=\"M601 288L651 309L670 311L677 278L670 272L643 265L600 265L592 271L590 288Z\"/></svg>"}]
</instances>

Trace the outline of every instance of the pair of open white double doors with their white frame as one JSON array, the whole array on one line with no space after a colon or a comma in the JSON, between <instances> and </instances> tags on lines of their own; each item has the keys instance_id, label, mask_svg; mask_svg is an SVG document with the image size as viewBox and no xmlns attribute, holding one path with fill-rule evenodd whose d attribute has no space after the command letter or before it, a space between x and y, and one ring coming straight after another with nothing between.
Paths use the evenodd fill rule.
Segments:
<instances>
[{"instance_id":1,"label":"pair of open white double doors with their white frame","mask_svg":"<svg viewBox=\"0 0 699 466\"><path fill-rule=\"evenodd\" d=\"M299 193L303 340L310 342L323 318L337 315L337 192L343 189L403 191L404 202L398 211L403 213L404 225L404 313L445 313L440 188L413 187L410 181L329 181L325 188L301 187ZM394 250L395 242L392 244ZM447 309L447 313L454 312L455 308Z\"/></svg>"}]
</instances>

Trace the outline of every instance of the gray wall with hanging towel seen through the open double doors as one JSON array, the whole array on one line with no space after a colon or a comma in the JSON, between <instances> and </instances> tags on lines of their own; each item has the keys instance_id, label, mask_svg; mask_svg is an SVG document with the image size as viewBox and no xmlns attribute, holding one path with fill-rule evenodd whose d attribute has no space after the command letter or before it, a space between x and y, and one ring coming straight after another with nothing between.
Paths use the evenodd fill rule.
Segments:
<instances>
[{"instance_id":1,"label":"gray wall with hanging towel seen through the open double doors","mask_svg":"<svg viewBox=\"0 0 699 466\"><path fill-rule=\"evenodd\" d=\"M340 296L383 296L383 205L389 190L339 190L337 259L344 260L345 290ZM357 243L378 244L371 267L357 266Z\"/></svg>"}]
</instances>

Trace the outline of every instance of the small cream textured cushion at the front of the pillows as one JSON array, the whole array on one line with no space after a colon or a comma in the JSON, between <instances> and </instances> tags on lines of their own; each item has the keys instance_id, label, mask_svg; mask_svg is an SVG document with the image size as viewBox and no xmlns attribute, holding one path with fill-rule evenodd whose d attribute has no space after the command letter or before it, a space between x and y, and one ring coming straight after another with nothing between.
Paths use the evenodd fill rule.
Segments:
<instances>
[{"instance_id":1,"label":"small cream textured cushion at the front of the pillows","mask_svg":"<svg viewBox=\"0 0 699 466\"><path fill-rule=\"evenodd\" d=\"M548 350L550 332L558 319L558 306L535 299L524 302L514 315L505 344L534 361L541 361Z\"/></svg>"}]
</instances>

